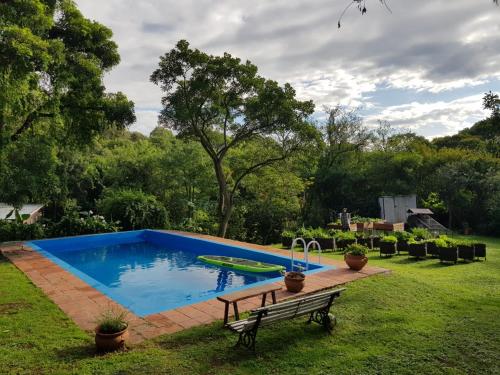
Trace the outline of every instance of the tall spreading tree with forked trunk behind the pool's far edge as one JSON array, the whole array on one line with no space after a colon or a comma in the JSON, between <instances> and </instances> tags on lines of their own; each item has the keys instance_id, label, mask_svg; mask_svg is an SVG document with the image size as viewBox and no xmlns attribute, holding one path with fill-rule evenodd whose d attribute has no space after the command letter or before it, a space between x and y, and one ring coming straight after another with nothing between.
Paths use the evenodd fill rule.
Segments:
<instances>
[{"instance_id":1,"label":"tall spreading tree with forked trunk behind the pool's far edge","mask_svg":"<svg viewBox=\"0 0 500 375\"><path fill-rule=\"evenodd\" d=\"M297 100L289 84L281 87L257 75L255 65L228 53L211 56L181 40L160 58L151 81L165 94L160 124L199 141L212 160L219 186L219 236L226 235L242 180L315 137L307 122L314 111L311 101ZM263 146L262 152L245 154L251 162L229 169L228 155L255 144Z\"/></svg>"}]
</instances>

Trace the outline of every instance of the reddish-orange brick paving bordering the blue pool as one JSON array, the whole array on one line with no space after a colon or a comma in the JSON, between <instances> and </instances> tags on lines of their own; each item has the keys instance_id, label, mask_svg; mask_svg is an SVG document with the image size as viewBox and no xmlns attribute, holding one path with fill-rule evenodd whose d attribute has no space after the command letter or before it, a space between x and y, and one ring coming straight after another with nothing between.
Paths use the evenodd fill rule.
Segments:
<instances>
[{"instance_id":1,"label":"reddish-orange brick paving bordering the blue pool","mask_svg":"<svg viewBox=\"0 0 500 375\"><path fill-rule=\"evenodd\" d=\"M268 246L254 245L207 235L175 231L166 232L209 239L229 245L244 246L249 249L267 251L287 257L290 256L289 250L274 249ZM0 251L83 330L93 331L95 320L103 311L109 309L126 310L100 291L89 286L78 277L22 243L0 244ZM302 253L295 253L295 255L297 259L302 259L303 257ZM317 256L312 255L311 261L316 262ZM326 257L321 258L321 263L335 266L336 268L308 275L306 285L300 293L287 292L282 281L275 283L283 287L282 290L276 293L278 302L333 288L371 275L390 272L383 268L370 266L366 266L360 272L356 272L350 270L344 262ZM247 290L250 291L250 289ZM249 311L260 307L260 303L260 297L249 298L238 302L238 310L240 312ZM223 317L224 303L215 298L148 315L143 318L128 311L127 319L129 321L130 343L136 344L159 335L208 324L216 320L222 320Z\"/></svg>"}]
</instances>

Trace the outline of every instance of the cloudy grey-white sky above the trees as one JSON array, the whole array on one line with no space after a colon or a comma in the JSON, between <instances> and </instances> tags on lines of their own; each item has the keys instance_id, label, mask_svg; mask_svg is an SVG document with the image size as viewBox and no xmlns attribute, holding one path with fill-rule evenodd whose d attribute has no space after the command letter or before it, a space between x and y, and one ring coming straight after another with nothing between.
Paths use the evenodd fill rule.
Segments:
<instances>
[{"instance_id":1,"label":"cloudy grey-white sky above the trees","mask_svg":"<svg viewBox=\"0 0 500 375\"><path fill-rule=\"evenodd\" d=\"M484 92L500 91L500 7L491 0L77 0L86 17L110 27L121 64L110 91L136 104L133 130L156 126L160 90L149 82L159 56L179 39L211 54L229 52L260 74L289 82L322 108L362 108L432 138L484 118Z\"/></svg>"}]
</instances>

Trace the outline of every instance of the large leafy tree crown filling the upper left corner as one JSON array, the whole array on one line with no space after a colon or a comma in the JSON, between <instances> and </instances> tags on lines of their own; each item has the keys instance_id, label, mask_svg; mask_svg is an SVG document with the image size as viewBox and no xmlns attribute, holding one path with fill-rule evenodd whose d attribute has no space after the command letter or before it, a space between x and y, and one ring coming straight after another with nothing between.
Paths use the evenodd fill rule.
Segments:
<instances>
[{"instance_id":1,"label":"large leafy tree crown filling the upper left corner","mask_svg":"<svg viewBox=\"0 0 500 375\"><path fill-rule=\"evenodd\" d=\"M120 60L110 29L70 0L1 1L0 15L0 148L44 120L81 142L135 121L133 103L102 83Z\"/></svg>"}]
</instances>

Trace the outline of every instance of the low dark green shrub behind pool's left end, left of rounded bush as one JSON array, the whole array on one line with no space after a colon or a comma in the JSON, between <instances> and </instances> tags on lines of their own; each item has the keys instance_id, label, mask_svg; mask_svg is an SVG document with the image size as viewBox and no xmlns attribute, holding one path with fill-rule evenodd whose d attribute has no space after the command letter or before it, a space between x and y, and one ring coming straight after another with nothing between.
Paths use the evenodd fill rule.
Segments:
<instances>
[{"instance_id":1,"label":"low dark green shrub behind pool's left end, left of rounded bush","mask_svg":"<svg viewBox=\"0 0 500 375\"><path fill-rule=\"evenodd\" d=\"M79 217L77 213L65 215L59 222L48 226L48 232L51 237L108 233L116 232L119 229L120 227L117 223L107 222L102 216Z\"/></svg>"}]
</instances>

